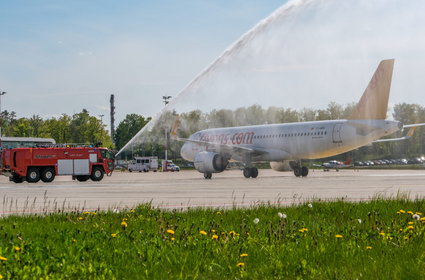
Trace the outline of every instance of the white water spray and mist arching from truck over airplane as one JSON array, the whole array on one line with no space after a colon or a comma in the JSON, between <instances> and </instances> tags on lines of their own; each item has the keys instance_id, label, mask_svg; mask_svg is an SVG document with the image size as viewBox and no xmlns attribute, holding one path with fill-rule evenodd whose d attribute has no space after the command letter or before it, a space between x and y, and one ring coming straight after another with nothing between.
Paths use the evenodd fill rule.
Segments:
<instances>
[{"instance_id":1,"label":"white water spray and mist arching from truck over airplane","mask_svg":"<svg viewBox=\"0 0 425 280\"><path fill-rule=\"evenodd\" d=\"M385 58L396 58L390 100L414 102L425 88L424 8L419 0L289 1L226 49L119 153L158 142L174 113L357 101Z\"/></svg>"}]
</instances>

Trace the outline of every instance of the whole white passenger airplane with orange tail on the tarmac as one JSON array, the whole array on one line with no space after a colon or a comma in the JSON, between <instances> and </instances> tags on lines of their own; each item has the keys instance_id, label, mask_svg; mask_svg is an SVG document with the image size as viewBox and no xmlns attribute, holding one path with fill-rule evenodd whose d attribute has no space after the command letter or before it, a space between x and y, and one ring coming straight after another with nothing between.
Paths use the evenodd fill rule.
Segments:
<instances>
[{"instance_id":1,"label":"whole white passenger airplane with orange tail on the tarmac","mask_svg":"<svg viewBox=\"0 0 425 280\"><path fill-rule=\"evenodd\" d=\"M181 156L194 163L196 170L211 179L223 172L230 161L244 165L243 175L256 178L254 162L270 162L276 171L293 170L306 177L308 168L302 160L325 158L368 145L405 127L399 121L386 120L394 59L382 60L360 101L346 120L326 120L282 124L211 128L189 138L177 136L178 119L171 138L183 141ZM404 140L409 136L394 138ZM391 139L385 139L391 141Z\"/></svg>"}]
</instances>

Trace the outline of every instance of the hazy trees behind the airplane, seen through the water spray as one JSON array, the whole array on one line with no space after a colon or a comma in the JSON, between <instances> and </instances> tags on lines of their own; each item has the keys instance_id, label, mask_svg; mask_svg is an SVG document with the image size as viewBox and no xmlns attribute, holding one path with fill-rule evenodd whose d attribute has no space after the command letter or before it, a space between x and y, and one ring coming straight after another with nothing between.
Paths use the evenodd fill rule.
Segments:
<instances>
[{"instance_id":1,"label":"hazy trees behind the airplane, seen through the water spray","mask_svg":"<svg viewBox=\"0 0 425 280\"><path fill-rule=\"evenodd\" d=\"M180 137L189 137L192 133L214 127L230 127L230 126L244 126L244 125L259 125L259 124L272 124L272 123L290 123L290 122L303 122L303 121L319 121L319 120L337 120L347 119L352 114L356 104L340 105L331 102L325 109L311 109L303 108L301 110L294 110L291 108L269 107L262 108L259 105L250 107L238 108L235 110L220 109L212 110L205 113L200 110L194 110L187 113L180 114L180 126L178 134ZM392 117L394 120L401 121L403 124L412 124L425 122L425 107L418 104L397 104L392 109ZM171 158L179 158L179 151L182 145L181 142L170 141L168 136L168 143L165 143L165 131L170 131L173 126L175 112L169 111L163 114L160 119L156 120L155 125L149 133L143 135L142 143L135 144L131 149L125 151L122 158L131 159L135 154L137 155L156 155L158 157L164 156L165 146L168 146L169 155ZM122 139L120 143L125 145L142 127L146 124L140 121L138 124L134 119L140 118L146 121L140 115L132 115L133 121L127 121L127 124L134 124L133 128L126 128L130 133L126 139ZM121 125L121 124L120 124ZM118 131L118 130L117 130ZM407 131L398 132L393 137L401 137ZM378 158L403 158L403 157L416 157L425 154L425 128L418 128L413 137L409 140L398 142L384 142L377 143L371 146L362 147L356 150L355 158L358 159L378 159ZM118 146L120 149L122 146ZM342 157L347 157L343 155Z\"/></svg>"}]
</instances>

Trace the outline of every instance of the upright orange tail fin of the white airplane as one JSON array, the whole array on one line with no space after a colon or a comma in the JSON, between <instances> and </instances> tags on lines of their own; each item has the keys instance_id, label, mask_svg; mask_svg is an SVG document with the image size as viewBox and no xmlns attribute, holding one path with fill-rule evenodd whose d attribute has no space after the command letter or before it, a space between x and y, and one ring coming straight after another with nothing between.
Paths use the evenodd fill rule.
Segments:
<instances>
[{"instance_id":1,"label":"upright orange tail fin of the white airplane","mask_svg":"<svg viewBox=\"0 0 425 280\"><path fill-rule=\"evenodd\" d=\"M350 120L385 120L393 75L394 59L382 60Z\"/></svg>"}]
</instances>

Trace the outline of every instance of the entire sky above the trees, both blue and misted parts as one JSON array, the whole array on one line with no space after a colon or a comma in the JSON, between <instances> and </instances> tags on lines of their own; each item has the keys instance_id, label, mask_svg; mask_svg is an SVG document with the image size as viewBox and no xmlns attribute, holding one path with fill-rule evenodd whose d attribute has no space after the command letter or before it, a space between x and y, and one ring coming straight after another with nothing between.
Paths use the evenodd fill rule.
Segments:
<instances>
[{"instance_id":1,"label":"entire sky above the trees, both blue and misted parts","mask_svg":"<svg viewBox=\"0 0 425 280\"><path fill-rule=\"evenodd\" d=\"M390 106L425 105L423 0L3 0L1 109L18 117L357 102L395 58ZM389 117L391 115L389 114ZM109 128L109 126L108 126Z\"/></svg>"}]
</instances>

